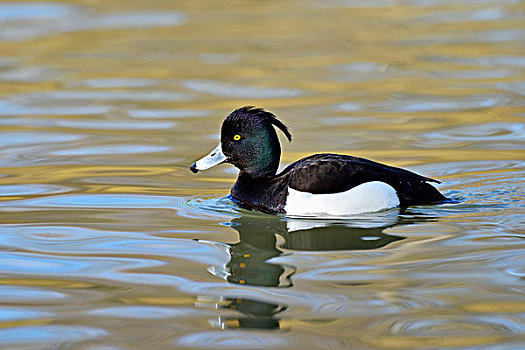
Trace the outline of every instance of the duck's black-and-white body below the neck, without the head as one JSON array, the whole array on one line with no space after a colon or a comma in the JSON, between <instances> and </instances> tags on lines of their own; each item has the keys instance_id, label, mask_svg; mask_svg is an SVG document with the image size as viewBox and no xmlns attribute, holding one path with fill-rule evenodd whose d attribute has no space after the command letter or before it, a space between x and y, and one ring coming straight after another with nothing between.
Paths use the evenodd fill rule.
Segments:
<instances>
[{"instance_id":1,"label":"duck's black-and-white body below the neck, without the head","mask_svg":"<svg viewBox=\"0 0 525 350\"><path fill-rule=\"evenodd\" d=\"M368 159L323 153L300 159L273 177L254 179L241 172L231 194L244 206L262 211L344 215L345 208L354 208L346 214L355 214L446 199L427 181L439 183ZM321 205L325 209L317 208Z\"/></svg>"}]
</instances>

